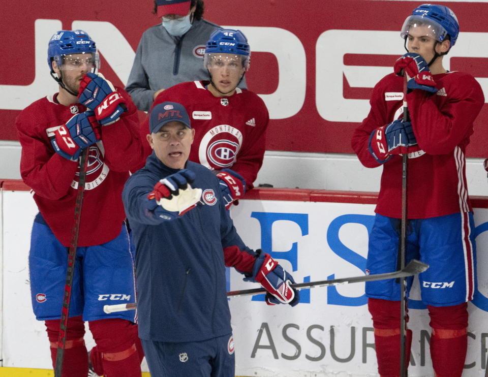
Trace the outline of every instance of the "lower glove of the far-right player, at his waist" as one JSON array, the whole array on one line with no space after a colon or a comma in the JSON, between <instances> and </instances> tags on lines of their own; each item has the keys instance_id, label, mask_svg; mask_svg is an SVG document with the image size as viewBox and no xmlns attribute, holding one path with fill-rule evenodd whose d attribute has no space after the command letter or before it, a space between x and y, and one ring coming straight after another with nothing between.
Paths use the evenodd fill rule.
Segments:
<instances>
[{"instance_id":1,"label":"lower glove of the far-right player, at his waist","mask_svg":"<svg viewBox=\"0 0 488 377\"><path fill-rule=\"evenodd\" d=\"M412 123L397 119L378 127L371 133L369 151L375 160L384 164L392 154L416 152L420 150L412 129Z\"/></svg>"}]
</instances>

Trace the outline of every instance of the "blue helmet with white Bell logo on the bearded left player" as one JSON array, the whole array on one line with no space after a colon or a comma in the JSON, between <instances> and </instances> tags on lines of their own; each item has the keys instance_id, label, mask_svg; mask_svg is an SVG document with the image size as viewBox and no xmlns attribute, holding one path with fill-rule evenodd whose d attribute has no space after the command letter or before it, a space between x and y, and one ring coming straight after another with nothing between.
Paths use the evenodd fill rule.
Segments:
<instances>
[{"instance_id":1,"label":"blue helmet with white Bell logo on the bearded left player","mask_svg":"<svg viewBox=\"0 0 488 377\"><path fill-rule=\"evenodd\" d=\"M94 56L95 68L100 67L95 42L83 30L59 30L49 40L47 48L47 64L51 72L51 61L56 61L58 67L63 65L63 55L91 53Z\"/></svg>"}]
</instances>

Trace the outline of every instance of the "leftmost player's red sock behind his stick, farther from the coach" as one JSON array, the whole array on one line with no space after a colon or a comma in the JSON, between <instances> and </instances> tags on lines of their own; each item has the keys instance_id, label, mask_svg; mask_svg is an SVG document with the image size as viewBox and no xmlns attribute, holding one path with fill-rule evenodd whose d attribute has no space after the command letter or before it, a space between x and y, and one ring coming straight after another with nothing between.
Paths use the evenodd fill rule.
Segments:
<instances>
[{"instance_id":1,"label":"leftmost player's red sock behind his stick, farther from the coach","mask_svg":"<svg viewBox=\"0 0 488 377\"><path fill-rule=\"evenodd\" d=\"M61 320L44 321L47 336L51 343L51 360L53 369L56 367L57 341ZM88 354L83 335L85 326L81 316L68 319L66 331L65 353L63 357L62 377L86 377L88 374Z\"/></svg>"}]
</instances>

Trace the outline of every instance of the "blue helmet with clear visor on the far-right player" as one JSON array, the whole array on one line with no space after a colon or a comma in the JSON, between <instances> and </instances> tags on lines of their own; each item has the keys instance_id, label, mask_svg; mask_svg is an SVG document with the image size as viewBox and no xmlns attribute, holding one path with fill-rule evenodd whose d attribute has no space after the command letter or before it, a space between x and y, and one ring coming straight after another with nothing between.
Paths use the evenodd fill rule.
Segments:
<instances>
[{"instance_id":1,"label":"blue helmet with clear visor on the far-right player","mask_svg":"<svg viewBox=\"0 0 488 377\"><path fill-rule=\"evenodd\" d=\"M407 17L400 33L406 38L411 27L428 25L431 30L431 37L442 42L447 36L450 37L451 46L454 46L459 34L459 23L456 15L449 8L443 5L422 4L415 8L412 15Z\"/></svg>"}]
</instances>

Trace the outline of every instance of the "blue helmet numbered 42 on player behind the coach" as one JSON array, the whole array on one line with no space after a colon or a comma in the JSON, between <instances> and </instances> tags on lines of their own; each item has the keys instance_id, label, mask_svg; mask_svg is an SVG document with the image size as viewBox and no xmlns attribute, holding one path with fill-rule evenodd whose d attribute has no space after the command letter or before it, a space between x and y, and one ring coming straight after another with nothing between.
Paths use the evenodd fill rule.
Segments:
<instances>
[{"instance_id":1,"label":"blue helmet numbered 42 on player behind the coach","mask_svg":"<svg viewBox=\"0 0 488 377\"><path fill-rule=\"evenodd\" d=\"M207 54L215 53L242 55L242 66L249 69L251 49L248 39L240 30L217 29L210 35L205 46L203 61L205 67L208 62Z\"/></svg>"}]
</instances>

